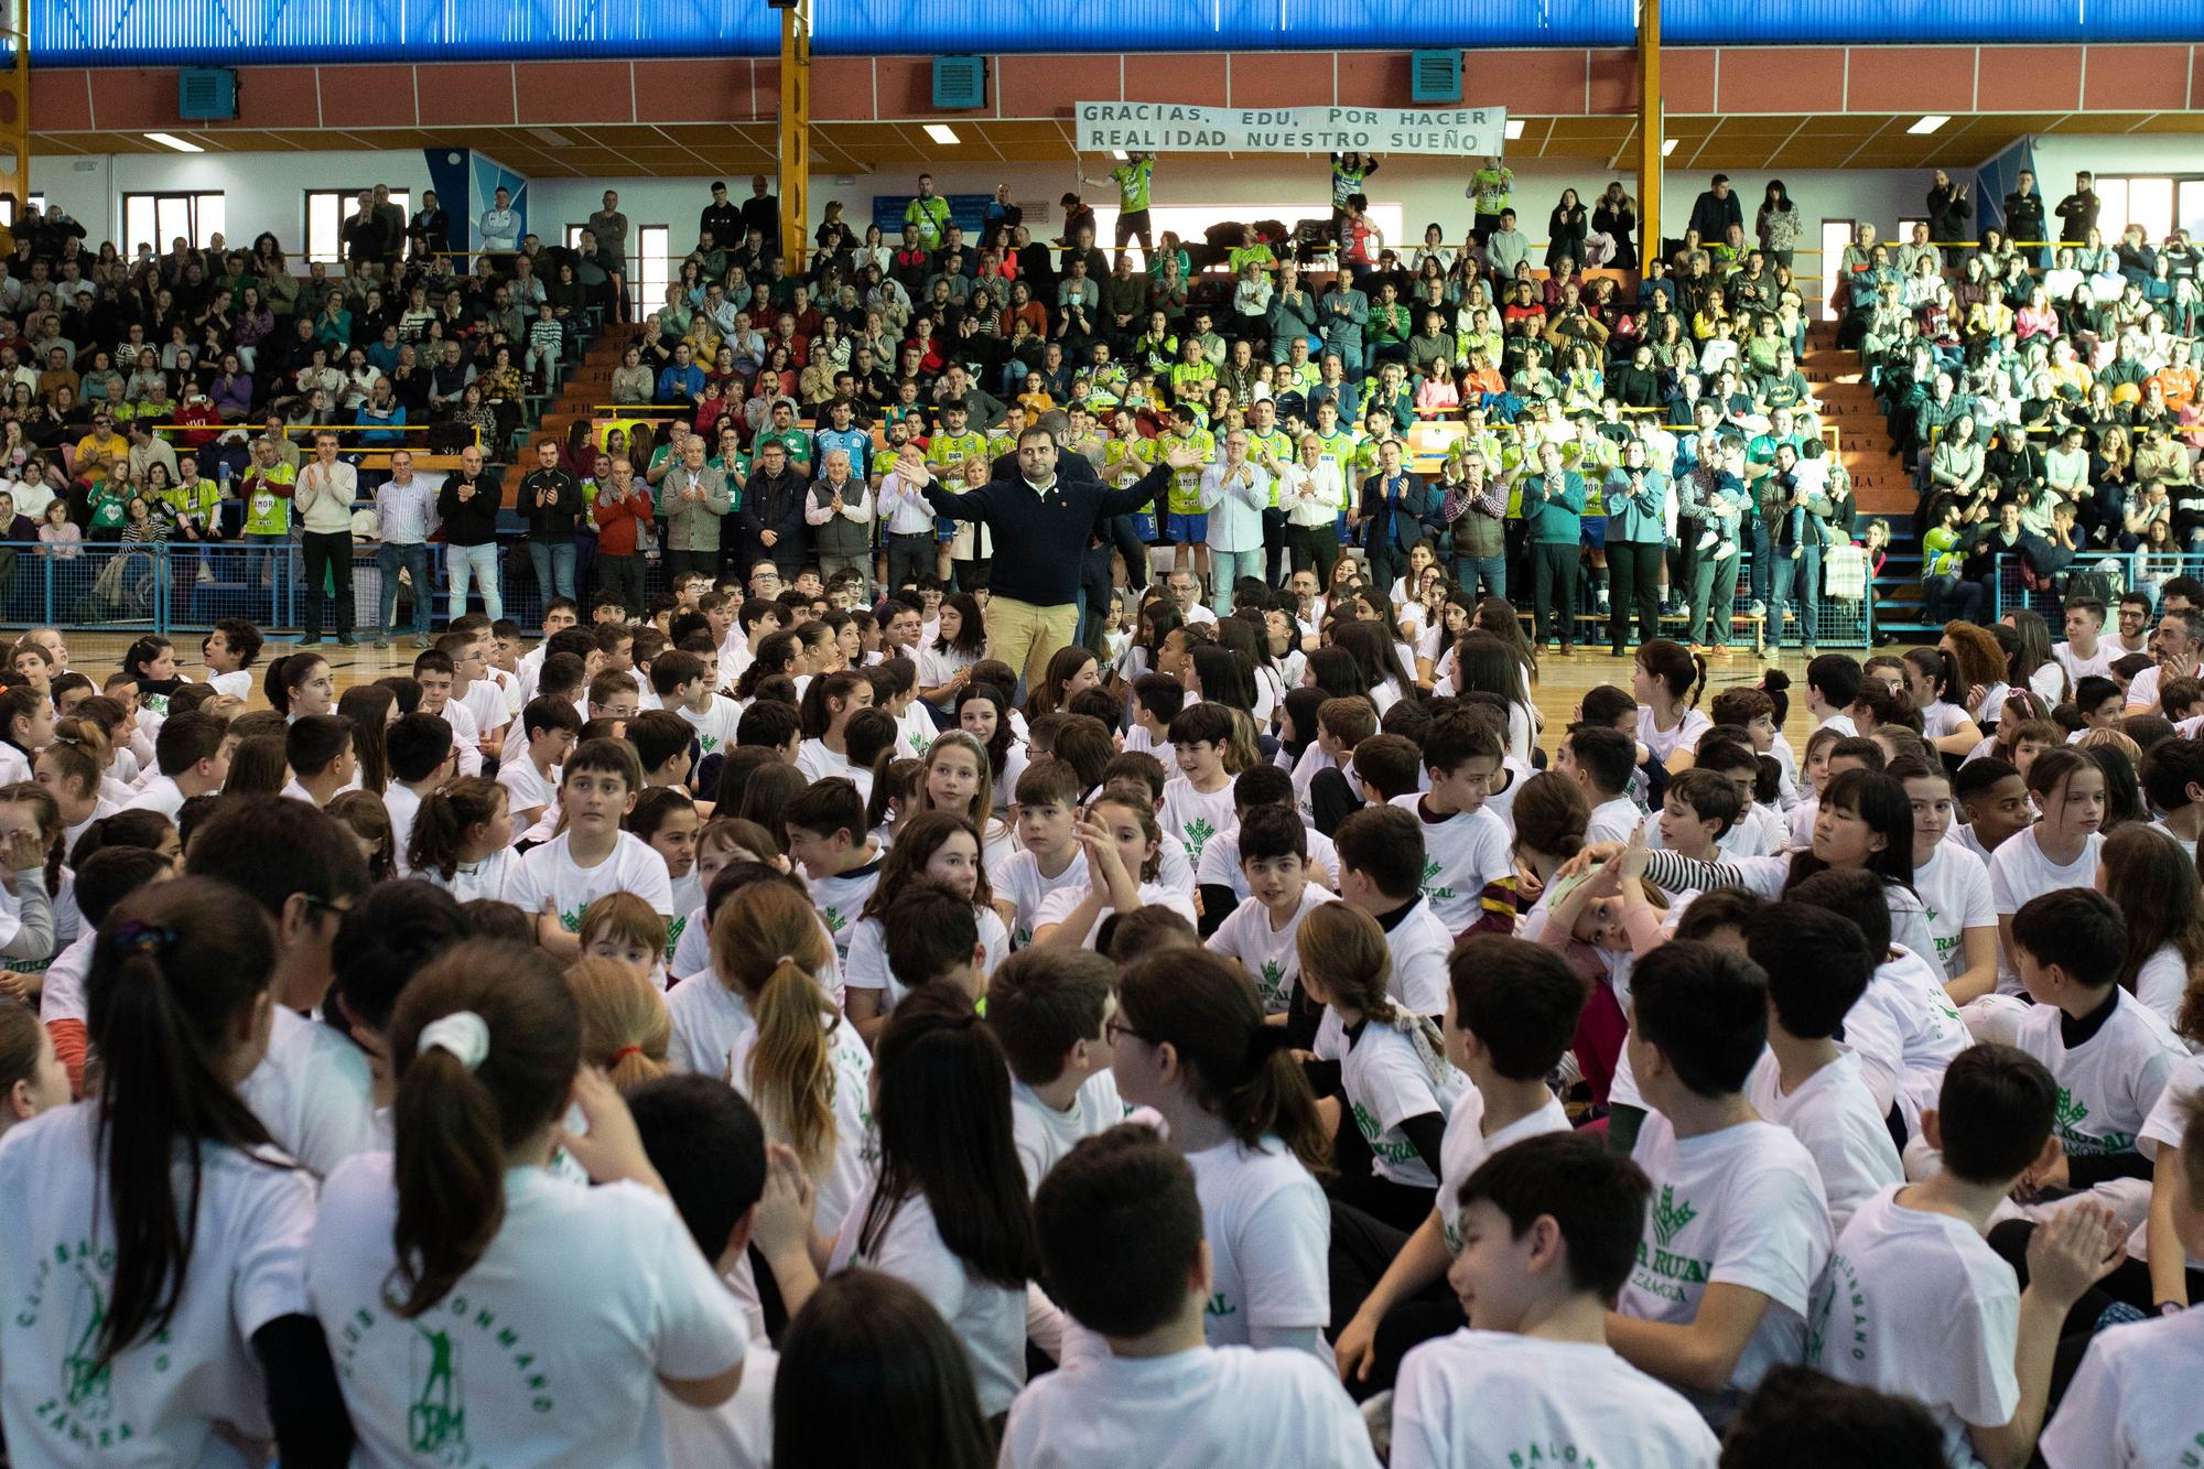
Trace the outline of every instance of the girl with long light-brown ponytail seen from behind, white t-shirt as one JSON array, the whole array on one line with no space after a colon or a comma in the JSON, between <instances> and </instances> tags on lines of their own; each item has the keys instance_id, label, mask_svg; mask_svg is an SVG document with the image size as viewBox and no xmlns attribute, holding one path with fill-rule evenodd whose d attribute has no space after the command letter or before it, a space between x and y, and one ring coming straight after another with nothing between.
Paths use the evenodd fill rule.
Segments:
<instances>
[{"instance_id":1,"label":"girl with long light-brown ponytail seen from behind, white t-shirt","mask_svg":"<svg viewBox=\"0 0 2204 1469\"><path fill-rule=\"evenodd\" d=\"M793 884L760 882L721 907L712 959L754 1021L727 1050L725 1081L758 1109L767 1143L796 1151L818 1187L813 1224L831 1235L873 1171L873 1052L818 984L833 944Z\"/></svg>"}]
</instances>

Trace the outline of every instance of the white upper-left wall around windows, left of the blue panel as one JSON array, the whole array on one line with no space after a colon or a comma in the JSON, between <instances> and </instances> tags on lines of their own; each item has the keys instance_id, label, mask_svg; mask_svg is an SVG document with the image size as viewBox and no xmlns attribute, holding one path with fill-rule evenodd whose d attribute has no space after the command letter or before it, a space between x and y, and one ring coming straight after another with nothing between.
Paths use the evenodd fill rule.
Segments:
<instances>
[{"instance_id":1,"label":"white upper-left wall around windows, left of the blue panel","mask_svg":"<svg viewBox=\"0 0 2204 1469\"><path fill-rule=\"evenodd\" d=\"M428 159L419 150L392 152L192 152L192 154L33 154L31 190L68 210L97 245L123 243L123 194L214 192L225 194L231 245L251 245L273 229L284 249L306 243L306 190L361 190L388 183L419 199L430 187ZM168 240L152 240L168 249Z\"/></svg>"}]
</instances>

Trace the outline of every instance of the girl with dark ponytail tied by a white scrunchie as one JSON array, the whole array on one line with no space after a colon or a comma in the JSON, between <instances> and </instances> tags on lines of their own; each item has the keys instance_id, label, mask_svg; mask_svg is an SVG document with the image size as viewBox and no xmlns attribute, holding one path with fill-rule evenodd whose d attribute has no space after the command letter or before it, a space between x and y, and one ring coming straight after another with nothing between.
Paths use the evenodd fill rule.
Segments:
<instances>
[{"instance_id":1,"label":"girl with dark ponytail tied by a white scrunchie","mask_svg":"<svg viewBox=\"0 0 2204 1469\"><path fill-rule=\"evenodd\" d=\"M659 1387L725 1403L747 1326L619 1092L582 1068L558 966L496 940L454 946L399 997L390 1061L397 1151L328 1176L306 1251L361 1458L498 1445L531 1462L659 1462ZM586 1134L560 1127L569 1105ZM553 1173L553 1149L599 1187Z\"/></svg>"}]
</instances>

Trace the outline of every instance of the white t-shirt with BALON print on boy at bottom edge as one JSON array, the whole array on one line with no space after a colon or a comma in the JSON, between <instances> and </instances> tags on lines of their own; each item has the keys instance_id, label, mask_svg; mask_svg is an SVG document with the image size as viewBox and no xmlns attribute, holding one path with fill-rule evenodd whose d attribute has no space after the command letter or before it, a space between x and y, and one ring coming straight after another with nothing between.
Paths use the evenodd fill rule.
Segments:
<instances>
[{"instance_id":1,"label":"white t-shirt with BALON print on boy at bottom edge","mask_svg":"<svg viewBox=\"0 0 2204 1469\"><path fill-rule=\"evenodd\" d=\"M1715 1469L1719 1456L1699 1412L1609 1345L1463 1326L1408 1352L1393 1390L1393 1469Z\"/></svg>"}]
</instances>

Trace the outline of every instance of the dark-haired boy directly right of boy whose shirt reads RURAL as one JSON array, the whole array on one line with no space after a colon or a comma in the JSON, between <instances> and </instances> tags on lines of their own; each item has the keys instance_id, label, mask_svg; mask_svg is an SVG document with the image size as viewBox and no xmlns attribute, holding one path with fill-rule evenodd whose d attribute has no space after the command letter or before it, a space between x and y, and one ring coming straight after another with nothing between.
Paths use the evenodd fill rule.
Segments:
<instances>
[{"instance_id":1,"label":"dark-haired boy directly right of boy whose shirt reads RURAL","mask_svg":"<svg viewBox=\"0 0 2204 1469\"><path fill-rule=\"evenodd\" d=\"M1768 975L1768 1052L1746 1098L1792 1129L1821 1171L1829 1229L1843 1233L1876 1191L1902 1182L1884 1109L1860 1079L1860 1054L1836 1039L1876 975L1867 935L1849 918L1772 902L1746 922L1746 953Z\"/></svg>"}]
</instances>

